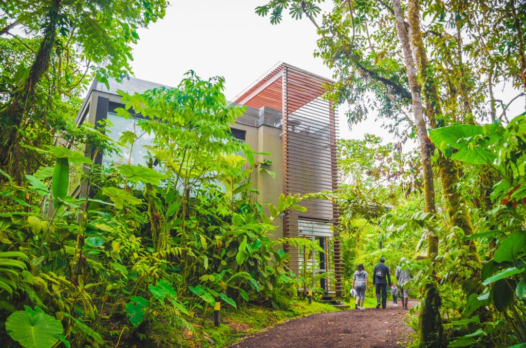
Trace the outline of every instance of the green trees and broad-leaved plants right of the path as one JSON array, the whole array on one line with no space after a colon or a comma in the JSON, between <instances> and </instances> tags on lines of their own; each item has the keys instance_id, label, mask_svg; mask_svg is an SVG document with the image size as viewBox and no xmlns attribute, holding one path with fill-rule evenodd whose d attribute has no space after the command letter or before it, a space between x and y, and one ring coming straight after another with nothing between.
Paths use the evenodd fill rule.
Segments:
<instances>
[{"instance_id":1,"label":"green trees and broad-leaved plants right of the path","mask_svg":"<svg viewBox=\"0 0 526 348\"><path fill-rule=\"evenodd\" d=\"M515 122L507 113L510 105L524 97L524 2L334 0L323 2L332 8L319 16L322 2L272 0L258 6L256 13L268 15L277 24L288 12L295 19L307 17L317 27L315 55L335 71L336 83L329 87L329 97L348 103L350 125L374 115L402 141L418 135L425 204L418 190L407 202L398 196L400 200L381 219L386 244L404 250L412 259L411 268L420 271L413 281L423 296L418 345L523 342L525 303L522 294L513 291L521 288L516 274L522 272L517 257L523 243L522 237L515 241L518 237L514 236L523 236L524 230L515 229L514 223L521 225L523 217L522 182L517 173L521 173L518 161L524 148L520 135L486 132L473 138L472 130L457 125L479 127L489 120L495 122L493 127L502 128ZM504 101L496 95L498 88L506 88ZM449 127L440 128L444 126ZM495 142L501 136L504 140ZM464 142L471 138L469 145ZM483 148L487 141L491 149ZM462 151L466 147L479 157ZM360 155L364 153L355 148ZM377 157L366 153L362 162L349 167L359 187L347 187L352 199L344 209L357 217L369 219L369 213L360 207L393 201L387 193L392 182L383 192L372 189L370 183L378 181L377 173L389 180L398 165L392 162L389 170L377 171L386 156L381 148L376 153ZM434 180L429 180L431 164ZM416 178L419 182L419 176ZM358 204L353 204L355 198ZM369 202L360 205L360 201ZM361 242L376 230L376 222L371 221L365 231L347 240L349 247L356 249L356 240ZM508 243L517 250L504 247ZM361 242L358 250L367 245ZM368 249L366 254L375 250ZM508 256L502 258L499 250L507 250ZM386 253L396 255L390 250ZM513 267L517 269L507 270ZM498 269L503 273L497 277L502 278L493 280L491 275ZM486 307L490 302L484 301L491 298L494 306ZM510 300L499 300L502 298ZM463 325L460 330L459 323ZM456 340L463 334L468 335Z\"/></svg>"}]
</instances>

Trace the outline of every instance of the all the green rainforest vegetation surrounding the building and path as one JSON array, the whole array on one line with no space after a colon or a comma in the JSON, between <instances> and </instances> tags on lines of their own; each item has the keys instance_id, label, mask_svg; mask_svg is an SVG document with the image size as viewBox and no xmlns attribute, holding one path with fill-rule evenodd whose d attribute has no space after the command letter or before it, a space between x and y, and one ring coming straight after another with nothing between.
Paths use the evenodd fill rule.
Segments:
<instances>
[{"instance_id":1,"label":"all the green rainforest vegetation surrounding the building and path","mask_svg":"<svg viewBox=\"0 0 526 348\"><path fill-rule=\"evenodd\" d=\"M337 80L328 97L348 103L350 125L375 112L402 142L416 138L422 132L411 101L421 97L423 130L430 129L420 145L431 158L375 136L341 140L340 188L304 197L340 204L347 290L358 263L371 270L384 255L394 270L405 257L411 295L421 299L409 318L419 346L520 345L526 116L508 114L524 96L525 3L335 0L317 22L320 2L272 0L256 12L272 24L288 11L316 25L315 54ZM201 80L190 71L177 88L120 93L118 116L153 137L146 166L131 163L134 132L115 143L103 132L107 123L74 125L87 79L130 73L137 28L162 18L166 5L0 4L6 345L184 345L193 333L206 337L216 302L232 310L247 303L287 308L297 290L319 284L312 273L291 274L281 250L283 243L315 244L269 238L281 213L305 208L298 196L281 196L277 206L258 201L250 178L265 171L265 154L231 136L243 109L227 103L222 78ZM17 26L25 36L13 34ZM418 91L401 54L403 33L411 38ZM517 96L501 101L495 90L503 87ZM92 158L84 157L86 145ZM127 162L95 165L97 155L123 148ZM428 159L434 182L426 189ZM430 197L437 209L424 208ZM176 329L165 335L166 326Z\"/></svg>"}]
</instances>

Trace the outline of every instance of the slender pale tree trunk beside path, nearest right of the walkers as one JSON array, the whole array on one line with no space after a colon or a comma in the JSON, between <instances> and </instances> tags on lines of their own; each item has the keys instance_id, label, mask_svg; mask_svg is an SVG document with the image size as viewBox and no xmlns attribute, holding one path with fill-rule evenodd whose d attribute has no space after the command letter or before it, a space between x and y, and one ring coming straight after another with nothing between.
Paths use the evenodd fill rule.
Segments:
<instances>
[{"instance_id":1,"label":"slender pale tree trunk beside path, nearest right of the walkers","mask_svg":"<svg viewBox=\"0 0 526 348\"><path fill-rule=\"evenodd\" d=\"M417 73L414 67L413 56L411 54L411 43L409 41L409 34L403 23L402 7L400 0L393 0L393 10L395 12L396 27L398 37L402 43L403 55L406 63L407 77L411 89L411 97L413 103L414 124L417 128L418 138L420 140L420 156L423 169L424 181L424 200L426 201L426 211L430 213L436 212L434 203L434 185L433 172L431 168L431 144L428 138L427 124L423 117L423 106L421 98L421 90L417 81ZM409 1L409 25L414 25L414 18L416 17L418 27L411 27L412 36L420 36L419 24L419 4L418 1ZM413 23L411 23L413 19ZM415 32L416 31L416 32ZM413 40L414 44L414 40ZM418 48L418 47L417 47ZM417 59L421 61L422 57L417 49ZM428 258L432 258L438 254L438 236L432 231L428 231ZM438 293L437 284L430 282L426 286L426 301L420 311L419 315L419 346L437 345L441 341L442 336L442 322L439 313L440 295Z\"/></svg>"}]
</instances>

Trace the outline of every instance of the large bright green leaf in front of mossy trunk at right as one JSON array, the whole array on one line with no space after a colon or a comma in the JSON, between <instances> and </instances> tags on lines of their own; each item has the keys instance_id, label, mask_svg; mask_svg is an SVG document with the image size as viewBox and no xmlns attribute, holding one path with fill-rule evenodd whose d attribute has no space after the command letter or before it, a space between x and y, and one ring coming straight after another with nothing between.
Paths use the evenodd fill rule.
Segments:
<instances>
[{"instance_id":1,"label":"large bright green leaf in front of mossy trunk at right","mask_svg":"<svg viewBox=\"0 0 526 348\"><path fill-rule=\"evenodd\" d=\"M434 146L452 159L471 164L492 163L496 157L495 153L487 146L479 146L480 141L489 143L497 141L497 135L488 132L491 128L474 125L447 126L431 129L429 139Z\"/></svg>"}]
</instances>

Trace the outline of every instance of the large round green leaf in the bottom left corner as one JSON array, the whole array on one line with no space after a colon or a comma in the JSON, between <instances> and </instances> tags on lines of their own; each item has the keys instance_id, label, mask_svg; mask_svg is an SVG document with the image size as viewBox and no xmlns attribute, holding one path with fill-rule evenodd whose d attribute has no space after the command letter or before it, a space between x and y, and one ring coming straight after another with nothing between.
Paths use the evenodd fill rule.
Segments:
<instances>
[{"instance_id":1,"label":"large round green leaf in the bottom left corner","mask_svg":"<svg viewBox=\"0 0 526 348\"><path fill-rule=\"evenodd\" d=\"M35 307L9 315L5 329L9 336L26 348L53 347L64 331L62 323Z\"/></svg>"}]
</instances>

